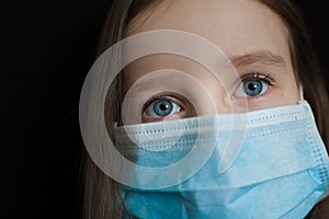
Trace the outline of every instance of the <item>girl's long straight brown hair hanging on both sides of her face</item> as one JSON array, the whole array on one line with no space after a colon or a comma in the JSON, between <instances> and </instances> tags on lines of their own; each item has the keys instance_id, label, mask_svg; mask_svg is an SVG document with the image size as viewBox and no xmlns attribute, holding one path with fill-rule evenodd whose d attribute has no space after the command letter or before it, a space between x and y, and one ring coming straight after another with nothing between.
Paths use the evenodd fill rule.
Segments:
<instances>
[{"instance_id":1,"label":"girl's long straight brown hair hanging on both sides of her face","mask_svg":"<svg viewBox=\"0 0 329 219\"><path fill-rule=\"evenodd\" d=\"M162 0L113 0L99 44L99 55L122 41L134 18ZM290 51L296 80L303 83L305 99L309 102L317 127L328 147L328 96L320 68L313 49L306 24L291 0L258 0L275 12L287 30ZM105 103L105 116L110 122L120 120L122 79L117 77L110 87ZM107 124L107 129L110 125ZM110 134L111 135L111 134ZM84 219L118 219L125 214L121 185L105 175L89 157L86 149L82 155L82 216ZM308 215L315 216L317 207Z\"/></svg>"}]
</instances>

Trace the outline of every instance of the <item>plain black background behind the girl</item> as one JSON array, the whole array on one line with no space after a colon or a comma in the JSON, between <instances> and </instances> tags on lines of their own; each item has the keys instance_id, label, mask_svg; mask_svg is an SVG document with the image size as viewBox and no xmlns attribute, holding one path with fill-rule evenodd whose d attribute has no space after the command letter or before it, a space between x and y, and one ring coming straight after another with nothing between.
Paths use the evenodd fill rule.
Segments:
<instances>
[{"instance_id":1,"label":"plain black background behind the girl","mask_svg":"<svg viewBox=\"0 0 329 219\"><path fill-rule=\"evenodd\" d=\"M1 8L0 218L80 217L79 95L110 3L14 1ZM326 1L298 4L328 81Z\"/></svg>"}]
</instances>

